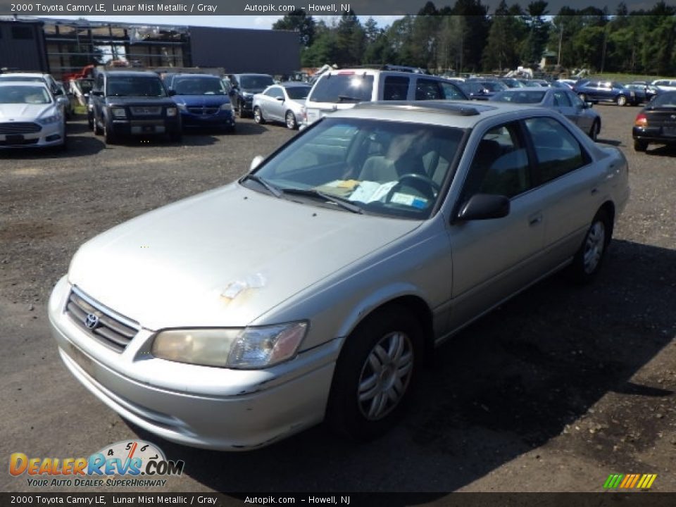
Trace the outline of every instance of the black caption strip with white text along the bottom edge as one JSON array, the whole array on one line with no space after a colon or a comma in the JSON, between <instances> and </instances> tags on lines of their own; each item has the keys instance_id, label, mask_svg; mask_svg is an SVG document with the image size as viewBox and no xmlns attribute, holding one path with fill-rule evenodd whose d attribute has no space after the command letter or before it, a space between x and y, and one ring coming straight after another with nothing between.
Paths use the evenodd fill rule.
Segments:
<instances>
[{"instance_id":1,"label":"black caption strip with white text along the bottom edge","mask_svg":"<svg viewBox=\"0 0 676 507\"><path fill-rule=\"evenodd\" d=\"M0 506L673 507L676 493L0 493Z\"/></svg>"}]
</instances>

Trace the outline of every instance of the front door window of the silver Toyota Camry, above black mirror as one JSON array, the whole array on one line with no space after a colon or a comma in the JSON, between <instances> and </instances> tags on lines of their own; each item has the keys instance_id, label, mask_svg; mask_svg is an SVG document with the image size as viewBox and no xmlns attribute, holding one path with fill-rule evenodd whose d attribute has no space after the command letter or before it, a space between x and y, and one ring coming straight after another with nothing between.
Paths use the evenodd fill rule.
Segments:
<instances>
[{"instance_id":1,"label":"front door window of the silver Toyota Camry, above black mirror","mask_svg":"<svg viewBox=\"0 0 676 507\"><path fill-rule=\"evenodd\" d=\"M514 197L532 188L530 167L518 123L489 130L477 146L465 180L463 201L474 194Z\"/></svg>"}]
</instances>

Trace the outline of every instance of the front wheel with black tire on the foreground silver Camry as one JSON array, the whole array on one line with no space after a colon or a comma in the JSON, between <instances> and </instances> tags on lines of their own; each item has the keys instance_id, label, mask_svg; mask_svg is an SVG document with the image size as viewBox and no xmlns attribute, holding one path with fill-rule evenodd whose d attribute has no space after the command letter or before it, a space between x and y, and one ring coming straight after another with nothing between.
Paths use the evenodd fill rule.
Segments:
<instances>
[{"instance_id":1,"label":"front wheel with black tire on the foreground silver Camry","mask_svg":"<svg viewBox=\"0 0 676 507\"><path fill-rule=\"evenodd\" d=\"M338 358L327 423L357 441L386 432L403 410L422 351L420 323L406 308L392 306L366 318Z\"/></svg>"}]
</instances>

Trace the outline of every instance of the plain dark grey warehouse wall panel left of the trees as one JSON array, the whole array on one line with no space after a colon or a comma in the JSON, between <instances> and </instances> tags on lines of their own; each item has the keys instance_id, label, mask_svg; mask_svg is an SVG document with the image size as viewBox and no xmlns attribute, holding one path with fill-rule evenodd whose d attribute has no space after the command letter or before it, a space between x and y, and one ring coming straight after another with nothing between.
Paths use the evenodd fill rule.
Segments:
<instances>
[{"instance_id":1,"label":"plain dark grey warehouse wall panel left of the trees","mask_svg":"<svg viewBox=\"0 0 676 507\"><path fill-rule=\"evenodd\" d=\"M227 73L289 74L301 67L298 34L280 30L190 27L192 65Z\"/></svg>"}]
</instances>

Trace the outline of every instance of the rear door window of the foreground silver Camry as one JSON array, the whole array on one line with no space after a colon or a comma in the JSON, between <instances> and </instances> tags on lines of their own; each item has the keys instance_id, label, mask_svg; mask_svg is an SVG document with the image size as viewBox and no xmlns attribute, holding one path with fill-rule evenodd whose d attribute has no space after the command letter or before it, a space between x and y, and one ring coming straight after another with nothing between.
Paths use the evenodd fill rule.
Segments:
<instances>
[{"instance_id":1,"label":"rear door window of the foreground silver Camry","mask_svg":"<svg viewBox=\"0 0 676 507\"><path fill-rule=\"evenodd\" d=\"M537 157L540 183L555 180L589 161L577 139L557 120L529 118L525 125Z\"/></svg>"}]
</instances>

